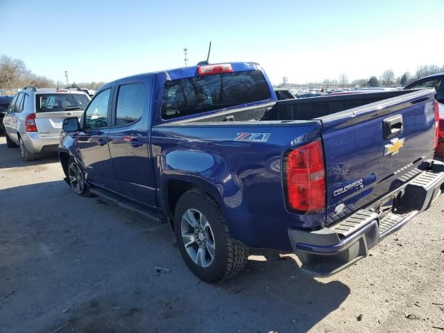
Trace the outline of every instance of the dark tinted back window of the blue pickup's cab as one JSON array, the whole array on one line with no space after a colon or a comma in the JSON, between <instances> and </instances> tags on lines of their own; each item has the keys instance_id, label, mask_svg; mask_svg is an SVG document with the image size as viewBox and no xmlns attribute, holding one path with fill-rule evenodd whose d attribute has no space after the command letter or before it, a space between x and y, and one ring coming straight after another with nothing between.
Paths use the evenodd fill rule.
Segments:
<instances>
[{"instance_id":1,"label":"dark tinted back window of the blue pickup's cab","mask_svg":"<svg viewBox=\"0 0 444 333\"><path fill-rule=\"evenodd\" d=\"M270 99L260 71L237 71L167 81L162 118L173 119Z\"/></svg>"}]
</instances>

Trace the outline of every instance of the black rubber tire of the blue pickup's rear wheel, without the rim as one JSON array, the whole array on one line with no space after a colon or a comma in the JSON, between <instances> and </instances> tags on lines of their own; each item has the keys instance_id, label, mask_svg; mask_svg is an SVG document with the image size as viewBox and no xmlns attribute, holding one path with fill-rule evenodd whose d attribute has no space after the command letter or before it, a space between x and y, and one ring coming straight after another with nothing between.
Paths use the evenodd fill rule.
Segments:
<instances>
[{"instance_id":1,"label":"black rubber tire of the blue pickup's rear wheel, without the rim","mask_svg":"<svg viewBox=\"0 0 444 333\"><path fill-rule=\"evenodd\" d=\"M189 210L201 212L211 227L212 235L214 235L215 251L210 266L203 267L196 264L185 248L181 223L182 217ZM234 243L219 205L203 189L192 189L179 198L174 214L174 230L182 258L191 272L205 282L222 282L233 278L247 263L248 248Z\"/></svg>"}]
</instances>

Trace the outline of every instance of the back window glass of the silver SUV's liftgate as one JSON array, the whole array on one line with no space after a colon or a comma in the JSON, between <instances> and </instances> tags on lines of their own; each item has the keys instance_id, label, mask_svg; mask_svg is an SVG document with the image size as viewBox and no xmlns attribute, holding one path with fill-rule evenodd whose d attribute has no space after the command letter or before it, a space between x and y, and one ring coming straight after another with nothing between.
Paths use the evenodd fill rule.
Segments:
<instances>
[{"instance_id":1,"label":"back window glass of the silver SUV's liftgate","mask_svg":"<svg viewBox=\"0 0 444 333\"><path fill-rule=\"evenodd\" d=\"M36 112L84 110L89 99L84 94L38 94L35 96Z\"/></svg>"}]
</instances>

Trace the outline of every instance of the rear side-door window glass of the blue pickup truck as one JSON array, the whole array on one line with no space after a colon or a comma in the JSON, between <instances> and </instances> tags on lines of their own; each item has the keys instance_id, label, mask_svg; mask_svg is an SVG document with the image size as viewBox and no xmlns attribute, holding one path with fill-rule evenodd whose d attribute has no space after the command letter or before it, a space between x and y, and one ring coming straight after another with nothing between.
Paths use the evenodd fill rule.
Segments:
<instances>
[{"instance_id":1,"label":"rear side-door window glass of the blue pickup truck","mask_svg":"<svg viewBox=\"0 0 444 333\"><path fill-rule=\"evenodd\" d=\"M144 114L144 83L130 83L119 87L116 107L116 126L135 123Z\"/></svg>"}]
</instances>

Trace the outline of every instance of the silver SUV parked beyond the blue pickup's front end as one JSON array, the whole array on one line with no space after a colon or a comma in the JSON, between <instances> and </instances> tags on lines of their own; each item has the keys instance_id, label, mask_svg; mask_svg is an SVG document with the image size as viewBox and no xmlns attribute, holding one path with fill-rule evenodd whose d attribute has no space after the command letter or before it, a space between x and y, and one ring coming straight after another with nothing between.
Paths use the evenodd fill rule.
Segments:
<instances>
[{"instance_id":1,"label":"silver SUV parked beyond the blue pickup's front end","mask_svg":"<svg viewBox=\"0 0 444 333\"><path fill-rule=\"evenodd\" d=\"M82 117L89 96L78 89L24 87L12 99L3 118L6 144L20 146L24 161L37 153L57 151L63 119Z\"/></svg>"}]
</instances>

